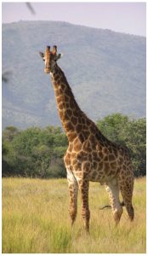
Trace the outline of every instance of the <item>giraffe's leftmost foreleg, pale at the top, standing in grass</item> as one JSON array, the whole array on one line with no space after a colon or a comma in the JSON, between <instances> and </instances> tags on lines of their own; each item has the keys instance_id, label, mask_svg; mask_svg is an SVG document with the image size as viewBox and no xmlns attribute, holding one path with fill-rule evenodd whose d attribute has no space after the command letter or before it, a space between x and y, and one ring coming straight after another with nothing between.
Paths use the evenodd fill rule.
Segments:
<instances>
[{"instance_id":1,"label":"giraffe's leftmost foreleg, pale at the top, standing in grass","mask_svg":"<svg viewBox=\"0 0 148 256\"><path fill-rule=\"evenodd\" d=\"M70 195L69 214L71 217L71 226L72 226L77 218L78 184L71 170L67 169L66 171L67 171L68 189L69 189L69 195Z\"/></svg>"}]
</instances>

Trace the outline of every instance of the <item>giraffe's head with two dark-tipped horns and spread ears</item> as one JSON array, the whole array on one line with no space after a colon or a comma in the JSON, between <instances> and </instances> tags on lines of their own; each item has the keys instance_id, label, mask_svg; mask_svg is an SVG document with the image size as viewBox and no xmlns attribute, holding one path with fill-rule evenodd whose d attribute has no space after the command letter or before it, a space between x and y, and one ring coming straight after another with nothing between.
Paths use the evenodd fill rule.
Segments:
<instances>
[{"instance_id":1,"label":"giraffe's head with two dark-tipped horns and spread ears","mask_svg":"<svg viewBox=\"0 0 148 256\"><path fill-rule=\"evenodd\" d=\"M50 50L50 46L47 46L45 53L43 54L43 52L39 52L39 54L45 62L44 73L53 72L54 67L56 66L56 61L61 57L61 54L57 54L57 46L54 45L52 50Z\"/></svg>"}]
</instances>

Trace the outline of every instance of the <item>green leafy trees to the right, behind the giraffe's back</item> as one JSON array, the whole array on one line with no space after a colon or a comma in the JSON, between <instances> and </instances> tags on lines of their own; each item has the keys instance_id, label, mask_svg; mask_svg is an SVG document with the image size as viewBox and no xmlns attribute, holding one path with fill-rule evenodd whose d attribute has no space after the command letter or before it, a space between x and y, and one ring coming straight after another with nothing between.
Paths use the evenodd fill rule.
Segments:
<instances>
[{"instance_id":1,"label":"green leafy trees to the right, behind the giraffe's back","mask_svg":"<svg viewBox=\"0 0 148 256\"><path fill-rule=\"evenodd\" d=\"M146 121L128 119L121 113L106 116L97 122L100 131L112 142L129 148L136 177L146 174Z\"/></svg>"}]
</instances>

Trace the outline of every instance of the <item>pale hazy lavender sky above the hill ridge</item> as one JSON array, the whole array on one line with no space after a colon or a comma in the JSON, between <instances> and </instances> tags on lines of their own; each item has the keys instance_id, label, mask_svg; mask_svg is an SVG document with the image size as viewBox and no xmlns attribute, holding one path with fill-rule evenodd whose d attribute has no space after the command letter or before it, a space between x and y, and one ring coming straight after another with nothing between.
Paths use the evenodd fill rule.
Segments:
<instances>
[{"instance_id":1,"label":"pale hazy lavender sky above the hill ridge","mask_svg":"<svg viewBox=\"0 0 148 256\"><path fill-rule=\"evenodd\" d=\"M77 25L146 36L145 3L3 3L2 21L62 20Z\"/></svg>"}]
</instances>

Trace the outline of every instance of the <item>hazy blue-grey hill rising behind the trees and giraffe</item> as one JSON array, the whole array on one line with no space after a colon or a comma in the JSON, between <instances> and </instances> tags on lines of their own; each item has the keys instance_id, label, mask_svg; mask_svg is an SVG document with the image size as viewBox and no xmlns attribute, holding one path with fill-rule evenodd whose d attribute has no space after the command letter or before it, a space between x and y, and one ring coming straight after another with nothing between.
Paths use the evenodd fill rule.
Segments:
<instances>
[{"instance_id":1,"label":"hazy blue-grey hill rising behind the trees and giraffe","mask_svg":"<svg viewBox=\"0 0 148 256\"><path fill-rule=\"evenodd\" d=\"M4 24L3 127L60 125L54 90L38 51L57 44L59 61L79 106L89 118L120 112L145 116L146 39L56 21Z\"/></svg>"}]
</instances>

